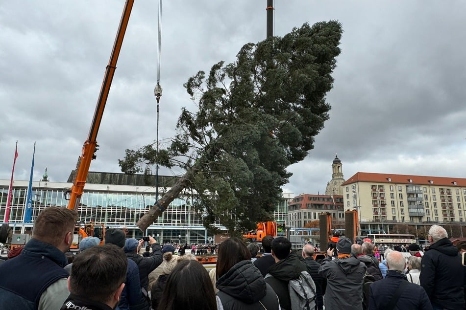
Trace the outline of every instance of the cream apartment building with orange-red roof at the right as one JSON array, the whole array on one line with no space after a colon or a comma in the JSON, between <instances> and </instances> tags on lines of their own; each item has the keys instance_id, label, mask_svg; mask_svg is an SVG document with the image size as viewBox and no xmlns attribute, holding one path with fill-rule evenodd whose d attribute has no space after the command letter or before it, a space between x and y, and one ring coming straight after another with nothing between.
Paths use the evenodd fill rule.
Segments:
<instances>
[{"instance_id":1,"label":"cream apartment building with orange-red roof at the right","mask_svg":"<svg viewBox=\"0 0 466 310\"><path fill-rule=\"evenodd\" d=\"M344 208L358 209L361 229L465 224L466 178L358 172L342 187Z\"/></svg>"}]
</instances>

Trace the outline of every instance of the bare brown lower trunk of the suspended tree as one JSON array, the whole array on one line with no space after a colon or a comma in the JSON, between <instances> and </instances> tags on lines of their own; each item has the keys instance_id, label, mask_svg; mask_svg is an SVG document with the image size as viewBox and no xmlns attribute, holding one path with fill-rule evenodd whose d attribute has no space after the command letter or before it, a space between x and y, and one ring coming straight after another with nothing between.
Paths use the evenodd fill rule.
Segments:
<instances>
[{"instance_id":1,"label":"bare brown lower trunk of the suspended tree","mask_svg":"<svg viewBox=\"0 0 466 310\"><path fill-rule=\"evenodd\" d=\"M147 212L139 221L136 222L136 226L139 227L146 233L147 227L149 227L154 221L157 220L159 216L162 215L164 210L170 206L170 203L178 197L179 193L186 188L188 181L193 177L197 172L197 169L192 167L183 177L180 177L178 181L173 185L173 187L158 201L150 207L149 212ZM158 202L158 203L157 203Z\"/></svg>"}]
</instances>

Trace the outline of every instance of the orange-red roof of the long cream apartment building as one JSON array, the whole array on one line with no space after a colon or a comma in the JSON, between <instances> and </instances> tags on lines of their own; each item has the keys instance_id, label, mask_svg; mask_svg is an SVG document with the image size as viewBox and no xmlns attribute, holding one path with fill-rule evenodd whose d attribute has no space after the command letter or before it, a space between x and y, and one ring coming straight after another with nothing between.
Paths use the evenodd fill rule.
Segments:
<instances>
[{"instance_id":1,"label":"orange-red roof of the long cream apartment building","mask_svg":"<svg viewBox=\"0 0 466 310\"><path fill-rule=\"evenodd\" d=\"M410 179L412 182L410 182ZM432 181L432 182L431 182ZM429 177L429 176L412 176L412 175L394 175L385 173L368 173L358 172L348 178L343 185L356 182L377 182L377 183L400 183L400 184L419 184L419 185L442 185L442 186L459 186L466 187L466 178L461 177Z\"/></svg>"}]
</instances>

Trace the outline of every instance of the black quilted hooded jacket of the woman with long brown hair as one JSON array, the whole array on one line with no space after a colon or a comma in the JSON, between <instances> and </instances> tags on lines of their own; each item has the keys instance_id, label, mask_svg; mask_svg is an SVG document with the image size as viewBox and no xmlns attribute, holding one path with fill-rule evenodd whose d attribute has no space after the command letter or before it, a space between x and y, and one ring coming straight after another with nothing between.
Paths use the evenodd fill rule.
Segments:
<instances>
[{"instance_id":1,"label":"black quilted hooded jacket of the woman with long brown hair","mask_svg":"<svg viewBox=\"0 0 466 310\"><path fill-rule=\"evenodd\" d=\"M278 309L277 295L250 260L231 267L216 287L224 310Z\"/></svg>"}]
</instances>

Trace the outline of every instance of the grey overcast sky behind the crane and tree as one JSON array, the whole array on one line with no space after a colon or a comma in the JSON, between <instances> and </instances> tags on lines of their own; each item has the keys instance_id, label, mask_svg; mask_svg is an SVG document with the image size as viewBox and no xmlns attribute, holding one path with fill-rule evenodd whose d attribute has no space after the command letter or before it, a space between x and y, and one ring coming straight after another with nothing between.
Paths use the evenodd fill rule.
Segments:
<instances>
[{"instance_id":1,"label":"grey overcast sky behind the crane and tree","mask_svg":"<svg viewBox=\"0 0 466 310\"><path fill-rule=\"evenodd\" d=\"M1 1L0 179L65 182L87 139L123 0ZM267 0L165 0L159 138L174 134L182 87L266 37ZM158 1L136 0L91 171L156 138ZM315 148L289 168L286 192L323 194L338 153L357 172L466 177L466 1L274 0L274 35L305 22L343 24L342 53ZM176 172L162 171L161 174Z\"/></svg>"}]
</instances>

